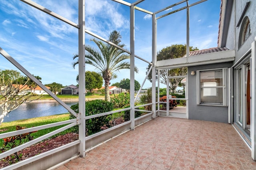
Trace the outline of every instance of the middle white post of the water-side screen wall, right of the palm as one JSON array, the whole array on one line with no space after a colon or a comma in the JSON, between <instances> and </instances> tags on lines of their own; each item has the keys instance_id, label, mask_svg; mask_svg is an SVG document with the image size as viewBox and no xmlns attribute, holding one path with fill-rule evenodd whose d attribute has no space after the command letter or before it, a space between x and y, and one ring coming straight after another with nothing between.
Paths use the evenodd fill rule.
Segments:
<instances>
[{"instance_id":1,"label":"middle white post of the water-side screen wall, right of the palm","mask_svg":"<svg viewBox=\"0 0 256 170\"><path fill-rule=\"evenodd\" d=\"M135 127L135 111L134 111L134 6L130 6L130 121L131 130L134 130Z\"/></svg>"}]
</instances>

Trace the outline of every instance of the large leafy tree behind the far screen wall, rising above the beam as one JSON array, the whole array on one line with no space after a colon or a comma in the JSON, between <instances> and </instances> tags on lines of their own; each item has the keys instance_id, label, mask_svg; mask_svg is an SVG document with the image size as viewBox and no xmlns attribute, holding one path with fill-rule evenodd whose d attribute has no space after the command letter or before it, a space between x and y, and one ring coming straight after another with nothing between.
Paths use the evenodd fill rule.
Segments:
<instances>
[{"instance_id":1,"label":"large leafy tree behind the far screen wall, rising above the beam","mask_svg":"<svg viewBox=\"0 0 256 170\"><path fill-rule=\"evenodd\" d=\"M195 51L198 50L197 47L193 48L193 47L189 47L190 51ZM157 53L157 61L160 60L166 60L166 59L174 59L174 58L180 58L180 57L184 57L186 55L186 45L182 45L182 44L176 44L176 45L172 45L172 46L168 46L163 48L161 51L159 51ZM148 73L148 70L150 69L151 65L148 65L147 67L147 71L146 74ZM160 77L156 77L156 79L159 79L160 83L163 83L166 85L167 83L167 70L163 69L163 70L159 70L159 75ZM182 68L175 68L175 69L168 69L168 76L180 76L180 75L186 75L186 73L188 72L187 67L182 67ZM170 79L170 89L172 90L172 92L174 92L176 90L176 88L178 87L180 81L183 78L174 78L174 79ZM148 80L150 82L152 82L152 73L150 73L148 75Z\"/></svg>"}]
</instances>

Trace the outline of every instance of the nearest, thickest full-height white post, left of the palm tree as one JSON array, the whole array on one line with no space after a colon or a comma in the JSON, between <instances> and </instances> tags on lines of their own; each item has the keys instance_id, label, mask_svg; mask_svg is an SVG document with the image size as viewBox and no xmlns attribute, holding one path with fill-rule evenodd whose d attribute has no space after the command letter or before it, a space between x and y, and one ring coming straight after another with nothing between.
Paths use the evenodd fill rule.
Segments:
<instances>
[{"instance_id":1,"label":"nearest, thickest full-height white post, left of the palm tree","mask_svg":"<svg viewBox=\"0 0 256 170\"><path fill-rule=\"evenodd\" d=\"M81 157L85 156L85 16L84 16L84 4L85 0L78 1L78 24L80 26L78 30L78 84L79 84L79 108L77 121L79 123L79 153Z\"/></svg>"}]
</instances>

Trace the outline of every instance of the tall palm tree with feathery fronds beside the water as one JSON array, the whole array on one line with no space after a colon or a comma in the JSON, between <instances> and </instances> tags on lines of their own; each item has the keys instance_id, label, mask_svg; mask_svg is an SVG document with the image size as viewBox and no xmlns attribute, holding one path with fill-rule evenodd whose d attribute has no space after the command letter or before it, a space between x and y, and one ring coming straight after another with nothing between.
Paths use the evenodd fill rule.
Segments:
<instances>
[{"instance_id":1,"label":"tall palm tree with feathery fronds beside the water","mask_svg":"<svg viewBox=\"0 0 256 170\"><path fill-rule=\"evenodd\" d=\"M120 32L113 31L109 35L108 41L115 43L119 47L124 47L124 44L121 44ZM113 45L103 43L102 41L96 40L93 38L91 41L96 43L100 51L91 47L90 45L85 46L85 63L93 65L98 68L102 73L102 77L104 79L105 85L105 100L110 101L109 94L109 85L110 80L112 78L116 78L117 75L114 73L120 69L130 69L130 63L124 61L126 59L130 59L130 55L124 54L124 51L114 47ZM74 55L73 59L76 59L78 55ZM75 67L78 64L78 60L73 64ZM136 73L138 73L138 69L135 67Z\"/></svg>"}]
</instances>

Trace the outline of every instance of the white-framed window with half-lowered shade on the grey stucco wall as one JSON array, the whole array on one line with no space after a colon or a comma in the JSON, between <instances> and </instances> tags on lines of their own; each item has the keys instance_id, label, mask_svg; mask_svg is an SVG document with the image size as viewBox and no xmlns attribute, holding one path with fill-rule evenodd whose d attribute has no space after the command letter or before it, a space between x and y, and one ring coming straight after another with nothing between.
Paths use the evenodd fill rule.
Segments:
<instances>
[{"instance_id":1,"label":"white-framed window with half-lowered shade on the grey stucco wall","mask_svg":"<svg viewBox=\"0 0 256 170\"><path fill-rule=\"evenodd\" d=\"M227 105L227 68L197 71L197 104Z\"/></svg>"}]
</instances>

